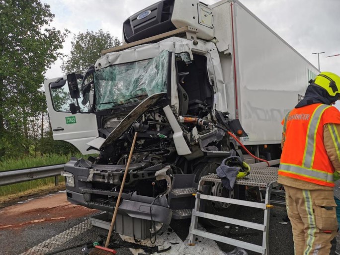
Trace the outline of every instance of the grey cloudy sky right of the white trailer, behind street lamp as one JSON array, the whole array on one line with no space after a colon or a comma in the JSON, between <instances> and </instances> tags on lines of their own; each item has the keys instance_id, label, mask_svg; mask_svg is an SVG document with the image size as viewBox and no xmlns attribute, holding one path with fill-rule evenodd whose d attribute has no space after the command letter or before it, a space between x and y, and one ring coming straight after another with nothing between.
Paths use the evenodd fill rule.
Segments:
<instances>
[{"instance_id":1,"label":"grey cloudy sky right of the white trailer, behind street lamp","mask_svg":"<svg viewBox=\"0 0 340 255\"><path fill-rule=\"evenodd\" d=\"M302 56L321 71L340 75L339 0L241 0L256 16L273 29Z\"/></svg>"}]
</instances>

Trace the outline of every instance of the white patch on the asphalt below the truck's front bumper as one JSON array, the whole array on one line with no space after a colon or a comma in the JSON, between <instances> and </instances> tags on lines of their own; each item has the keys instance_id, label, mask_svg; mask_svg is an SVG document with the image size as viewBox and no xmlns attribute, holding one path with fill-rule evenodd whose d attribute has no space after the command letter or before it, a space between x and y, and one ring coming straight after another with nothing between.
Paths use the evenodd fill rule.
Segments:
<instances>
[{"instance_id":1,"label":"white patch on the asphalt below the truck's front bumper","mask_svg":"<svg viewBox=\"0 0 340 255\"><path fill-rule=\"evenodd\" d=\"M170 227L169 227L170 228ZM199 230L206 231L202 226L198 224L197 227ZM168 235L169 233L169 235ZM134 239L132 237L124 236L124 235L119 235L121 239L124 241L130 242L130 243L135 243ZM140 240L141 245L146 245L146 246L161 246L160 249L167 249L169 246L171 246L171 249L168 252L164 252L162 254L164 255L189 255L189 254L213 254L213 255L224 255L224 253L220 250L218 245L214 240L211 239L206 239L202 237L197 237L198 240L196 241L195 246L189 246L188 245L188 237L185 239L183 242L177 234L172 231L168 232L165 231L161 236L157 235L157 240L156 244L151 244L150 239L145 239L145 240ZM172 245L171 243L179 243L176 245ZM139 253L144 253L142 249L131 249L130 251L133 255L138 255ZM158 255L157 253L153 253L153 255Z\"/></svg>"}]
</instances>

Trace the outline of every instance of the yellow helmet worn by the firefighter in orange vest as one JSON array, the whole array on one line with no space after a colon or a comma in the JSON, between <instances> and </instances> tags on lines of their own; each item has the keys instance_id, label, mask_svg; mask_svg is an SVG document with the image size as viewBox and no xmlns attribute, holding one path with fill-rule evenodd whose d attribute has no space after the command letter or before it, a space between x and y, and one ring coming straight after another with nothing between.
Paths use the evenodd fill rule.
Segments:
<instances>
[{"instance_id":1,"label":"yellow helmet worn by the firefighter in orange vest","mask_svg":"<svg viewBox=\"0 0 340 255\"><path fill-rule=\"evenodd\" d=\"M315 85L319 85L326 89L330 96L340 95L340 77L331 72L320 73L313 81Z\"/></svg>"}]
</instances>

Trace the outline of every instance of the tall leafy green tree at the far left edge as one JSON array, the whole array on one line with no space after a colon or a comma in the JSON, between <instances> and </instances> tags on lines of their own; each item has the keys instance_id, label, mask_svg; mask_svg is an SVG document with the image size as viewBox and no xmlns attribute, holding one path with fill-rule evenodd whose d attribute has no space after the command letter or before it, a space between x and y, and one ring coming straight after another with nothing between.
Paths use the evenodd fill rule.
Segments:
<instances>
[{"instance_id":1,"label":"tall leafy green tree at the far left edge","mask_svg":"<svg viewBox=\"0 0 340 255\"><path fill-rule=\"evenodd\" d=\"M28 122L46 109L44 73L68 33L53 18L39 0L0 0L0 159L28 151Z\"/></svg>"}]
</instances>

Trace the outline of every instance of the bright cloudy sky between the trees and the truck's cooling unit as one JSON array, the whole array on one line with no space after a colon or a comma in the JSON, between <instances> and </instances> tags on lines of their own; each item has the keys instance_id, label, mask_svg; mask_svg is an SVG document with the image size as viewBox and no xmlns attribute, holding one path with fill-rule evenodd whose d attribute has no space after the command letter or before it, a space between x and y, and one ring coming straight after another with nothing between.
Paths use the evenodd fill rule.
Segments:
<instances>
[{"instance_id":1,"label":"bright cloudy sky between the trees and the truck's cooling unit","mask_svg":"<svg viewBox=\"0 0 340 255\"><path fill-rule=\"evenodd\" d=\"M42 0L42 2L49 4L52 13L55 14L51 25L59 30L69 29L71 31L61 50L62 53L69 54L73 34L86 30L97 31L102 29L121 40L125 19L157 2L157 0ZM62 76L61 64L62 61L57 60L46 72L45 77Z\"/></svg>"}]
</instances>

